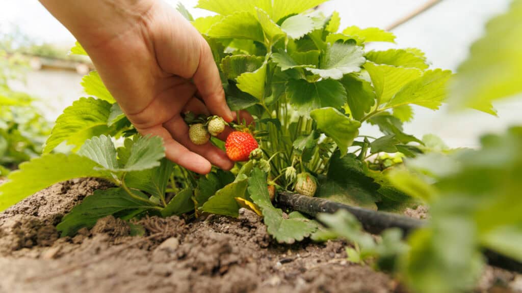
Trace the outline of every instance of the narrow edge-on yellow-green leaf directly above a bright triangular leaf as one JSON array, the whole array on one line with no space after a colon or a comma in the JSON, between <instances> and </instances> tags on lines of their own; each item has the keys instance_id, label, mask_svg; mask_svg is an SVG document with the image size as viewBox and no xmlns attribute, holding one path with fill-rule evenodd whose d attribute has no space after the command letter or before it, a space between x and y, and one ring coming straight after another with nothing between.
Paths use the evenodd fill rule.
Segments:
<instances>
[{"instance_id":1,"label":"narrow edge-on yellow-green leaf directly above a bright triangular leaf","mask_svg":"<svg viewBox=\"0 0 522 293\"><path fill-rule=\"evenodd\" d=\"M370 51L365 54L367 60L375 64L386 64L400 67L428 69L424 54L418 55L405 49L389 49L386 51Z\"/></svg>"}]
</instances>

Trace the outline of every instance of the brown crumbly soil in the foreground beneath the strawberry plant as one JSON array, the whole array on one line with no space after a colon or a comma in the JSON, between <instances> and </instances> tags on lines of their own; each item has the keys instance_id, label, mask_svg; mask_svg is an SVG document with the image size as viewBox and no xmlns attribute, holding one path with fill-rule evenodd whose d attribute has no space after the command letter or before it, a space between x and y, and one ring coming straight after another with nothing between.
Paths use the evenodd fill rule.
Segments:
<instances>
[{"instance_id":1,"label":"brown crumbly soil in the foreground beneath the strawberry plant","mask_svg":"<svg viewBox=\"0 0 522 293\"><path fill-rule=\"evenodd\" d=\"M62 216L109 186L70 180L0 213L0 292L406 292L393 277L348 262L342 241L274 243L248 210L238 219L148 217L134 223L143 236L109 216L58 237ZM488 267L477 291L515 292L517 284L519 275Z\"/></svg>"}]
</instances>

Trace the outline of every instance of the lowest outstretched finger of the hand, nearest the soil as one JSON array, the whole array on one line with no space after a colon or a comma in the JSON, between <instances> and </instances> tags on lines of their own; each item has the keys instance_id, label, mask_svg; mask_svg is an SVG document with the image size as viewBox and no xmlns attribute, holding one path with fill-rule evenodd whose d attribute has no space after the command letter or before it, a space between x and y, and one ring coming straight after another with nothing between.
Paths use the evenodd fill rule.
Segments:
<instances>
[{"instance_id":1,"label":"lowest outstretched finger of the hand, nearest the soil","mask_svg":"<svg viewBox=\"0 0 522 293\"><path fill-rule=\"evenodd\" d=\"M144 136L151 134L163 138L165 155L170 161L199 174L208 174L212 169L212 165L206 158L189 151L185 146L173 140L164 127L158 125L148 129L138 129L138 131Z\"/></svg>"}]
</instances>

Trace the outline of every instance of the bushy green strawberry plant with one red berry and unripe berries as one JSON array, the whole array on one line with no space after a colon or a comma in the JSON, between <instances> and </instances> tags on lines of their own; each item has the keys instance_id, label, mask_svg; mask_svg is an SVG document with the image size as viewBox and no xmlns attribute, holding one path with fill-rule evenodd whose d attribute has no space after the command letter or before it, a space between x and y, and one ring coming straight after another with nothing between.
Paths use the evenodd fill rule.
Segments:
<instances>
[{"instance_id":1,"label":"bushy green strawberry plant with one red berry and unripe berries","mask_svg":"<svg viewBox=\"0 0 522 293\"><path fill-rule=\"evenodd\" d=\"M366 158L422 153L423 141L405 133L402 124L413 117L411 105L437 109L452 74L428 69L415 48L365 50L367 43L394 42L395 36L377 28L340 30L338 13L312 10L323 2L201 0L199 8L217 15L195 20L180 9L209 43L231 109L254 119L234 121L224 145L211 139L238 162L232 172L199 176L168 162L161 140L137 133L93 71L82 80L89 96L58 117L45 154L22 164L0 187L0 208L58 181L99 177L115 187L97 191L64 217L58 226L63 235L108 214L238 216L248 206L264 216L272 236L293 242L310 236L317 224L296 212L283 217L268 186L274 193L294 190L373 210L416 204ZM80 44L72 52L86 54ZM219 117L188 114L185 120L196 144L224 128ZM383 136L360 135L364 123ZM123 145L116 147L118 138ZM61 143L73 145L73 153L52 154Z\"/></svg>"}]
</instances>

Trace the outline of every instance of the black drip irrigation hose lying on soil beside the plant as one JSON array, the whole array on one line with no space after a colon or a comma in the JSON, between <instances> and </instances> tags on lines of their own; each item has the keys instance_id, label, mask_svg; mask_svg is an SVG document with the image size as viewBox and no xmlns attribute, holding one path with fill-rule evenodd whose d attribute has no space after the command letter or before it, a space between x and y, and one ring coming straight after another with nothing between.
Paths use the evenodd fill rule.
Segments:
<instances>
[{"instance_id":1,"label":"black drip irrigation hose lying on soil beside the plant","mask_svg":"<svg viewBox=\"0 0 522 293\"><path fill-rule=\"evenodd\" d=\"M282 191L278 193L278 203L290 210L315 217L319 213L335 213L338 210L346 210L361 222L365 231L372 234L381 234L387 228L399 228L406 237L413 230L426 224L424 220L414 219L393 213L378 212L350 206L339 202L322 198L307 197L301 194ZM505 257L492 250L484 250L484 257L488 264L504 268L509 271L522 273L522 263Z\"/></svg>"}]
</instances>

